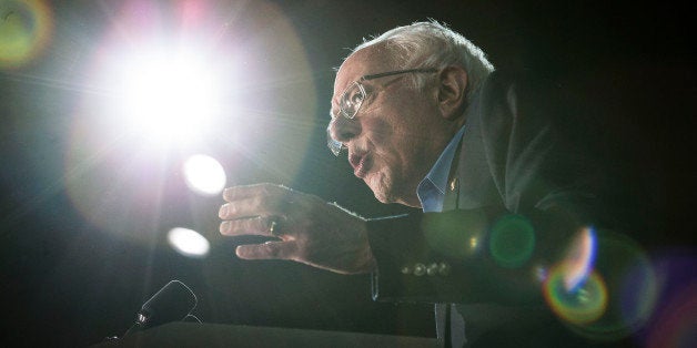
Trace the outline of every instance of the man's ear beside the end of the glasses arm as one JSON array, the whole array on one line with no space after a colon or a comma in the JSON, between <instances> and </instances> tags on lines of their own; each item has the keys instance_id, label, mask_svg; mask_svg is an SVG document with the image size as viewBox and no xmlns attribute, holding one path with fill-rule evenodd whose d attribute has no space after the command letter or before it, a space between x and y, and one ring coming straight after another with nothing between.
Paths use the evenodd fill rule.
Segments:
<instances>
[{"instance_id":1,"label":"man's ear beside the end of the glasses arm","mask_svg":"<svg viewBox=\"0 0 697 348\"><path fill-rule=\"evenodd\" d=\"M455 120L465 110L467 72L461 66L447 66L438 73L437 100L441 114L446 120Z\"/></svg>"}]
</instances>

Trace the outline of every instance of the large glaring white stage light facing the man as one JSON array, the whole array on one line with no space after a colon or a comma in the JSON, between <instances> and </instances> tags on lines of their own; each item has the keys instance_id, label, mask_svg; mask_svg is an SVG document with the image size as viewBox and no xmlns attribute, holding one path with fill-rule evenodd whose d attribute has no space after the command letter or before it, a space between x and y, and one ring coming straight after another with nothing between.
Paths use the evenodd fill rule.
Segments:
<instances>
[{"instance_id":1,"label":"large glaring white stage light facing the man","mask_svg":"<svg viewBox=\"0 0 697 348\"><path fill-rule=\"evenodd\" d=\"M212 64L191 50L159 49L123 57L114 70L124 126L158 143L191 143L213 129L220 90Z\"/></svg>"}]
</instances>

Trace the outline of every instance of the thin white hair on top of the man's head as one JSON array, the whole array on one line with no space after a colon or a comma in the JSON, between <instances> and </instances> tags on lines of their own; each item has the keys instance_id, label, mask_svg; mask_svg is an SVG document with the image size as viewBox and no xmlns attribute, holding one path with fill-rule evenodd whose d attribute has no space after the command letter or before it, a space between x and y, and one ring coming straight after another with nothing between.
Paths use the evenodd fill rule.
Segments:
<instances>
[{"instance_id":1,"label":"thin white hair on top of the man's head","mask_svg":"<svg viewBox=\"0 0 697 348\"><path fill-rule=\"evenodd\" d=\"M464 68L468 81L467 101L472 96L471 92L494 71L494 65L486 59L482 49L435 20L394 28L364 41L353 49L353 52L375 44L385 44L403 69L443 69L448 65ZM423 74L414 74L413 79L417 88L425 88L426 80Z\"/></svg>"}]
</instances>

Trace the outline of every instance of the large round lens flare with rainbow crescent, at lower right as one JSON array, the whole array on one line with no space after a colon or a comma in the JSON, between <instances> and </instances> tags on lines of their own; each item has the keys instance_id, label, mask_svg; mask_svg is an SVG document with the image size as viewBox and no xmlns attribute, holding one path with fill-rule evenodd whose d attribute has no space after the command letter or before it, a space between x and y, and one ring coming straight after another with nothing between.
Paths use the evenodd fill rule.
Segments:
<instances>
[{"instance_id":1,"label":"large round lens flare with rainbow crescent, at lower right","mask_svg":"<svg viewBox=\"0 0 697 348\"><path fill-rule=\"evenodd\" d=\"M570 329L600 341L622 339L644 325L655 308L654 267L632 238L586 228L569 256L550 270L543 293Z\"/></svg>"}]
</instances>

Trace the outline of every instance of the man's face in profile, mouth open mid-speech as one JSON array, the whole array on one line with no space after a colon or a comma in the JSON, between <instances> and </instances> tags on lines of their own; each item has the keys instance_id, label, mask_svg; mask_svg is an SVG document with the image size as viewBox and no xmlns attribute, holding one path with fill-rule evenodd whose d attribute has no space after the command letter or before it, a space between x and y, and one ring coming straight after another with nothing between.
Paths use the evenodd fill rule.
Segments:
<instances>
[{"instance_id":1,"label":"man's face in profile, mouth open mid-speech","mask_svg":"<svg viewBox=\"0 0 697 348\"><path fill-rule=\"evenodd\" d=\"M418 183L444 147L444 130L435 93L415 89L408 74L385 76L362 84L367 93L358 113L348 120L339 111L344 90L365 74L404 69L380 48L352 54L334 82L330 133L348 149L354 174L382 203L421 206ZM406 66L412 68L412 66Z\"/></svg>"}]
</instances>

